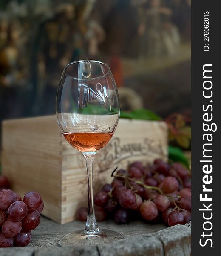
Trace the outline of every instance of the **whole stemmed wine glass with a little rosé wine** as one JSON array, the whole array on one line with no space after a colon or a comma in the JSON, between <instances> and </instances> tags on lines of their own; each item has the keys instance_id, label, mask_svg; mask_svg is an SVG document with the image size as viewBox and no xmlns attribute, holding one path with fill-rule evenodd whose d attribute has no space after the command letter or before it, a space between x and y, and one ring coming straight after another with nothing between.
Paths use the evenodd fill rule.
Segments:
<instances>
[{"instance_id":1,"label":"whole stemmed wine glass with a little ros\u00e9 wine","mask_svg":"<svg viewBox=\"0 0 221 256\"><path fill-rule=\"evenodd\" d=\"M118 91L108 65L92 60L68 64L57 90L56 113L65 139L83 153L88 173L85 230L67 234L59 245L99 244L122 239L117 232L99 229L93 201L94 156L111 140L120 113Z\"/></svg>"}]
</instances>

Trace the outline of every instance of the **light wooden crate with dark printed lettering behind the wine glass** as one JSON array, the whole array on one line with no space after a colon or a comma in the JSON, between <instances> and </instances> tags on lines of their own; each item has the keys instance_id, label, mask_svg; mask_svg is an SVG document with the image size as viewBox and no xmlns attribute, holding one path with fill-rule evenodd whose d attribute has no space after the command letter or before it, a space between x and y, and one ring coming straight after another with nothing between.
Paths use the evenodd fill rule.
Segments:
<instances>
[{"instance_id":1,"label":"light wooden crate with dark printed lettering behind the wine glass","mask_svg":"<svg viewBox=\"0 0 221 256\"><path fill-rule=\"evenodd\" d=\"M4 121L2 172L20 195L42 195L42 214L61 224L74 220L76 209L87 204L87 175L82 154L60 133L56 116ZM116 132L94 161L94 190L111 182L118 166L167 157L164 122L120 119Z\"/></svg>"}]
</instances>

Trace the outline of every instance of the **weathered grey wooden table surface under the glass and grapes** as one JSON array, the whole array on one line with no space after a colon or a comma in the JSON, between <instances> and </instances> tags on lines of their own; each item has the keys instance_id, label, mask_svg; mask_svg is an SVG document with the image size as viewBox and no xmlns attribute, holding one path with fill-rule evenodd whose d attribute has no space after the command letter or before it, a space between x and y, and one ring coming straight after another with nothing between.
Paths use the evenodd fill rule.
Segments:
<instances>
[{"instance_id":1,"label":"weathered grey wooden table surface under the glass and grapes","mask_svg":"<svg viewBox=\"0 0 221 256\"><path fill-rule=\"evenodd\" d=\"M96 246L58 247L62 236L74 230L83 230L85 223L72 221L57 224L42 216L41 223L33 230L27 247L0 248L0 256L190 256L191 223L167 228L163 224L132 221L117 225L108 220L99 227L121 233L125 238Z\"/></svg>"}]
</instances>

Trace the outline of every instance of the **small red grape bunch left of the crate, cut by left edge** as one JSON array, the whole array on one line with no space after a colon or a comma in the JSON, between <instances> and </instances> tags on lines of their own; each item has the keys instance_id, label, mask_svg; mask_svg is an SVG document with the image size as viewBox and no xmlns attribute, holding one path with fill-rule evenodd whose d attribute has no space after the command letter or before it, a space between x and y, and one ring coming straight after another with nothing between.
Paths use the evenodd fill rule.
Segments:
<instances>
[{"instance_id":1,"label":"small red grape bunch left of the crate, cut by left edge","mask_svg":"<svg viewBox=\"0 0 221 256\"><path fill-rule=\"evenodd\" d=\"M11 189L0 191L0 247L26 246L31 241L31 230L40 223L44 203L34 191L21 201Z\"/></svg>"}]
</instances>

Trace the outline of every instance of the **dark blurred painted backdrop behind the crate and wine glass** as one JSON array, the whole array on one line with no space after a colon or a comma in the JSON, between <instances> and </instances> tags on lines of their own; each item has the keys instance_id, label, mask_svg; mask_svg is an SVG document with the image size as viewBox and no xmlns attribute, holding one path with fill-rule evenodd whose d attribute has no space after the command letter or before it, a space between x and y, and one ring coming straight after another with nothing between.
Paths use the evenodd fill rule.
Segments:
<instances>
[{"instance_id":1,"label":"dark blurred painted backdrop behind the crate and wine glass","mask_svg":"<svg viewBox=\"0 0 221 256\"><path fill-rule=\"evenodd\" d=\"M0 121L55 113L79 59L109 64L123 111L189 118L191 0L1 0Z\"/></svg>"}]
</instances>

